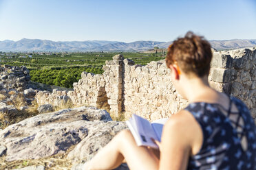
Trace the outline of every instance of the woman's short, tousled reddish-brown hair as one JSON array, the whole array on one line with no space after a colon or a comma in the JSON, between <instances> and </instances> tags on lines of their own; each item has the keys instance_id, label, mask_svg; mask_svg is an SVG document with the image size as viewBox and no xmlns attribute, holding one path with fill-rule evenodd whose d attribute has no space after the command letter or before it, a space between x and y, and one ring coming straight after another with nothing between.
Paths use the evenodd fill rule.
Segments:
<instances>
[{"instance_id":1,"label":"woman's short, tousled reddish-brown hair","mask_svg":"<svg viewBox=\"0 0 256 170\"><path fill-rule=\"evenodd\" d=\"M186 75L203 77L209 75L211 64L211 45L203 36L187 32L184 38L178 38L168 48L167 66L178 62Z\"/></svg>"}]
</instances>

